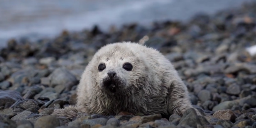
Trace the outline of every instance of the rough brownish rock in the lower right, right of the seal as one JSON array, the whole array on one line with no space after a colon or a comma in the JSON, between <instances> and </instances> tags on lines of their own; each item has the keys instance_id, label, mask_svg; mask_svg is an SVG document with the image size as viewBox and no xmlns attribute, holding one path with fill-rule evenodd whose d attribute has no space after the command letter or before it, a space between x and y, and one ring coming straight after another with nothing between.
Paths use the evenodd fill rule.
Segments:
<instances>
[{"instance_id":1,"label":"rough brownish rock in the lower right, right of the seal","mask_svg":"<svg viewBox=\"0 0 256 128\"><path fill-rule=\"evenodd\" d=\"M213 117L218 118L219 120L228 120L234 122L236 119L236 114L230 110L218 110L213 114Z\"/></svg>"}]
</instances>

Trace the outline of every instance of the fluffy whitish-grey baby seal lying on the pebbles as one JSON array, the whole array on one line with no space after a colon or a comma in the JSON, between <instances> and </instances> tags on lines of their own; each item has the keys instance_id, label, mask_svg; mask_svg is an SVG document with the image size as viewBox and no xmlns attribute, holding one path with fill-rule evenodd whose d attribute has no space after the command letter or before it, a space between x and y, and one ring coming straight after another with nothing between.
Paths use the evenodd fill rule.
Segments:
<instances>
[{"instance_id":1,"label":"fluffy whitish-grey baby seal lying on the pebbles","mask_svg":"<svg viewBox=\"0 0 256 128\"><path fill-rule=\"evenodd\" d=\"M101 47L86 66L77 86L77 104L55 109L52 115L74 118L78 112L107 116L125 111L168 117L182 116L188 108L193 107L187 88L163 54L138 43L118 42Z\"/></svg>"}]
</instances>

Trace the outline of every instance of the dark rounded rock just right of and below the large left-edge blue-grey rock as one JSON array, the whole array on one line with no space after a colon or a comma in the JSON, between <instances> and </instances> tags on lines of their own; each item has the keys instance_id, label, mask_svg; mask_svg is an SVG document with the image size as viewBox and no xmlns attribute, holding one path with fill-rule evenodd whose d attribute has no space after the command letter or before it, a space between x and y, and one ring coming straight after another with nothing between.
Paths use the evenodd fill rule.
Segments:
<instances>
[{"instance_id":1,"label":"dark rounded rock just right of and below the large left-edge blue-grey rock","mask_svg":"<svg viewBox=\"0 0 256 128\"><path fill-rule=\"evenodd\" d=\"M39 109L38 104L33 99L24 99L15 105L15 108L28 109L28 108L36 108Z\"/></svg>"}]
</instances>

